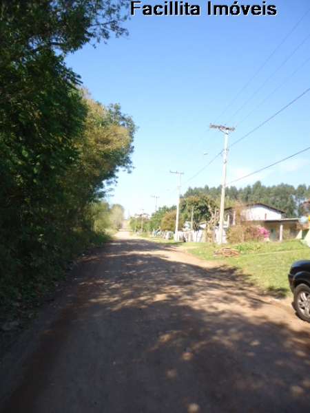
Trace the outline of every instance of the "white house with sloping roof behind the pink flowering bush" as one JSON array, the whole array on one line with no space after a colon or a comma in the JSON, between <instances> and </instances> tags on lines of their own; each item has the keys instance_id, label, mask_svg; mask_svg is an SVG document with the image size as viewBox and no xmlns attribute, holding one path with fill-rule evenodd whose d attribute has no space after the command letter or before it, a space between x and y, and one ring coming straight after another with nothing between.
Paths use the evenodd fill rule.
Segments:
<instances>
[{"instance_id":1,"label":"white house with sloping roof behind the pink flowering bush","mask_svg":"<svg viewBox=\"0 0 310 413\"><path fill-rule=\"evenodd\" d=\"M282 241L283 237L297 238L300 233L298 218L284 218L285 211L270 207L262 202L245 204L242 207L225 209L224 228L236 225L238 222L252 222L266 228L271 241Z\"/></svg>"}]
</instances>

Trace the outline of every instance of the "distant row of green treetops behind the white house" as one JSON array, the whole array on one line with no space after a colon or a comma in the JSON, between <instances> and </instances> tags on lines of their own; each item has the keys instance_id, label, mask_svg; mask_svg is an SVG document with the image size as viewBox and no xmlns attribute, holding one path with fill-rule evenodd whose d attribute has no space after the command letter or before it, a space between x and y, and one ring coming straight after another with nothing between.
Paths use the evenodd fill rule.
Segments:
<instances>
[{"instance_id":1,"label":"distant row of green treetops behind the white house","mask_svg":"<svg viewBox=\"0 0 310 413\"><path fill-rule=\"evenodd\" d=\"M205 194L219 203L220 187L189 188L184 194L187 198L192 195ZM293 187L289 184L265 187L260 181L245 188L228 187L226 189L226 207L231 207L236 201L243 203L262 202L270 207L282 209L288 218L302 214L302 203L310 198L310 186L302 184Z\"/></svg>"}]
</instances>

